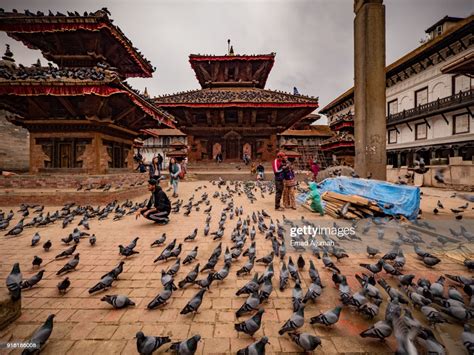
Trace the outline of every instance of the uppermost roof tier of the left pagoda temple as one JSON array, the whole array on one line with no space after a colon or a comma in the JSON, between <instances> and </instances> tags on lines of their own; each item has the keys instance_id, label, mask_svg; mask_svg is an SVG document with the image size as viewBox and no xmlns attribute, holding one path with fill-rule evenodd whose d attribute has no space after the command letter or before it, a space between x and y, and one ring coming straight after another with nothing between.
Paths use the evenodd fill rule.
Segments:
<instances>
[{"instance_id":1,"label":"uppermost roof tier of the left pagoda temple","mask_svg":"<svg viewBox=\"0 0 474 355\"><path fill-rule=\"evenodd\" d=\"M96 12L45 15L0 12L0 31L39 49L61 67L91 67L107 62L123 77L151 77L155 68L109 19L106 8Z\"/></svg>"}]
</instances>

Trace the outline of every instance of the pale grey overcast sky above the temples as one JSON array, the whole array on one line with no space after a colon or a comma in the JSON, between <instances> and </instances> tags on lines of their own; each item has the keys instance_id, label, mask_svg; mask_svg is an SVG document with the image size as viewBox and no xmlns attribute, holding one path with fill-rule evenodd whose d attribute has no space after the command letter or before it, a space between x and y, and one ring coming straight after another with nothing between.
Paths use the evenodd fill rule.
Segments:
<instances>
[{"instance_id":1,"label":"pale grey overcast sky above the temples","mask_svg":"<svg viewBox=\"0 0 474 355\"><path fill-rule=\"evenodd\" d=\"M425 29L445 15L466 17L473 0L385 0L387 65L419 46ZM353 85L352 0L3 0L11 11L95 11L106 6L118 25L157 67L151 79L129 79L152 96L198 89L190 53L276 52L267 88L319 96L320 108ZM0 33L17 62L39 51ZM3 49L1 49L3 52ZM43 61L43 63L45 63Z\"/></svg>"}]
</instances>

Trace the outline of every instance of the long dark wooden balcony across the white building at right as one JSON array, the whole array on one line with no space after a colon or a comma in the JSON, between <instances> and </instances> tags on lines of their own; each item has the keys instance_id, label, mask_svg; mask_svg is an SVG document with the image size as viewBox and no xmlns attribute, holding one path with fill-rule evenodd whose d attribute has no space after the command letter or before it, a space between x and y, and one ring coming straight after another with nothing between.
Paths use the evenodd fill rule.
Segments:
<instances>
[{"instance_id":1,"label":"long dark wooden balcony across the white building at right","mask_svg":"<svg viewBox=\"0 0 474 355\"><path fill-rule=\"evenodd\" d=\"M393 115L388 115L387 125L390 126L408 121L414 121L420 118L426 118L428 116L465 108L470 105L474 105L474 89L461 91L455 95L428 102L427 104L420 105L409 110L403 110L402 112L395 113Z\"/></svg>"}]
</instances>

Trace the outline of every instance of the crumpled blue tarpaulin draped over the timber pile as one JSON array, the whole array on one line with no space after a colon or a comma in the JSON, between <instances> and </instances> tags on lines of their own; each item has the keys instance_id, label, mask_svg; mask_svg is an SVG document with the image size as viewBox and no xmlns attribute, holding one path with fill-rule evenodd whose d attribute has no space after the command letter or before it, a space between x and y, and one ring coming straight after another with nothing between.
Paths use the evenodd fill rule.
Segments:
<instances>
[{"instance_id":1,"label":"crumpled blue tarpaulin draped over the timber pile","mask_svg":"<svg viewBox=\"0 0 474 355\"><path fill-rule=\"evenodd\" d=\"M373 200L388 215L415 219L420 209L420 188L396 185L385 181L354 179L346 176L329 178L318 185L319 192L334 191Z\"/></svg>"}]
</instances>

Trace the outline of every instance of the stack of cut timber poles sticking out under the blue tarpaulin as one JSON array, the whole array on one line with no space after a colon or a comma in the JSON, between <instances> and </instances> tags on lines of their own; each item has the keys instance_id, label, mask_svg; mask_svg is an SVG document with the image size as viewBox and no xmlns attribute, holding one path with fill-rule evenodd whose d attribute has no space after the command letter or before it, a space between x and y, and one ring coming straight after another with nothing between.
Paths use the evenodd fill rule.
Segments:
<instances>
[{"instance_id":1,"label":"stack of cut timber poles sticking out under the blue tarpaulin","mask_svg":"<svg viewBox=\"0 0 474 355\"><path fill-rule=\"evenodd\" d=\"M333 218L358 219L383 216L375 201L358 195L343 195L333 191L323 192L324 211Z\"/></svg>"}]
</instances>

